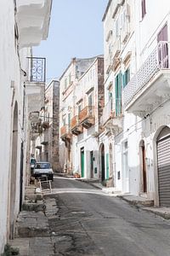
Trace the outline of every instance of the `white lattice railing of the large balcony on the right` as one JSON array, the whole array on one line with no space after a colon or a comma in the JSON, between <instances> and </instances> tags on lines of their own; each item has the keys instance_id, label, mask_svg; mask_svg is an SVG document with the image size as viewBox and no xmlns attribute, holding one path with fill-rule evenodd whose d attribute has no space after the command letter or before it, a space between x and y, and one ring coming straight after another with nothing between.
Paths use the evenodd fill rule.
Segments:
<instances>
[{"instance_id":1,"label":"white lattice railing of the large balcony on the right","mask_svg":"<svg viewBox=\"0 0 170 256\"><path fill-rule=\"evenodd\" d=\"M144 61L144 64L139 68L139 71L133 76L126 87L123 90L124 106L133 100L139 90L141 90L145 84L150 82L150 79L161 69L169 68L169 53L168 49L170 43L167 41L161 41L156 49L152 51L149 57Z\"/></svg>"}]
</instances>

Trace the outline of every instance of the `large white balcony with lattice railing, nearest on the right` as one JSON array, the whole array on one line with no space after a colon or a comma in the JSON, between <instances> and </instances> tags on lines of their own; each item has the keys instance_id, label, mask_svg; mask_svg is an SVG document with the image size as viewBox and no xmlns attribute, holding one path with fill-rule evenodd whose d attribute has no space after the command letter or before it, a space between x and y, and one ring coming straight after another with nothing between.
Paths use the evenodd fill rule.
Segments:
<instances>
[{"instance_id":1,"label":"large white balcony with lattice railing, nearest on the right","mask_svg":"<svg viewBox=\"0 0 170 256\"><path fill-rule=\"evenodd\" d=\"M128 113L143 117L169 99L169 46L167 42L160 42L124 88L124 106Z\"/></svg>"}]
</instances>

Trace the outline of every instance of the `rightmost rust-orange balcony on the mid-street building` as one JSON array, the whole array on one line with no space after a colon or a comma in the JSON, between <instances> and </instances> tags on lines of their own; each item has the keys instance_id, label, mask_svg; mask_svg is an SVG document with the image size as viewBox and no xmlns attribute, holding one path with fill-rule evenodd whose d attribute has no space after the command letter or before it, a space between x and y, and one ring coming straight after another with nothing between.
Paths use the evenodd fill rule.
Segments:
<instances>
[{"instance_id":1,"label":"rightmost rust-orange balcony on the mid-street building","mask_svg":"<svg viewBox=\"0 0 170 256\"><path fill-rule=\"evenodd\" d=\"M94 106L87 106L82 109L79 113L80 124L86 129L94 125L95 115L94 115Z\"/></svg>"}]
</instances>

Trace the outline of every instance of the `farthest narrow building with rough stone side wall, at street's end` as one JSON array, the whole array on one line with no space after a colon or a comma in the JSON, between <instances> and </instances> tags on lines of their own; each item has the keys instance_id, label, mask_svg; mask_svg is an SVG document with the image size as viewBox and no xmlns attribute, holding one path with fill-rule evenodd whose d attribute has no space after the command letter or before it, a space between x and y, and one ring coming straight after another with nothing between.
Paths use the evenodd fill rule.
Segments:
<instances>
[{"instance_id":1,"label":"farthest narrow building with rough stone side wall, at street's end","mask_svg":"<svg viewBox=\"0 0 170 256\"><path fill-rule=\"evenodd\" d=\"M32 156L37 161L49 161L54 172L59 172L59 81L52 80L46 86L39 117L41 129L32 143Z\"/></svg>"}]
</instances>

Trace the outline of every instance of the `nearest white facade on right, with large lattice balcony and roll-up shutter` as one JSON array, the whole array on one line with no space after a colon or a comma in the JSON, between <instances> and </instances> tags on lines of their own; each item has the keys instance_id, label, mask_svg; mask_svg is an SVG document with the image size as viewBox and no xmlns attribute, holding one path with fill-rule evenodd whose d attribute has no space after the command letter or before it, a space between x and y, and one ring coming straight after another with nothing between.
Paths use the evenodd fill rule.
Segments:
<instances>
[{"instance_id":1,"label":"nearest white facade on right, with large lattice balcony and roll-up shutter","mask_svg":"<svg viewBox=\"0 0 170 256\"><path fill-rule=\"evenodd\" d=\"M138 120L133 125L136 131L128 131L129 151L137 149L133 150L135 162L131 160L134 172L139 173L135 192L154 200L156 206L169 207L170 5L168 1L158 1L156 6L154 1L142 1L135 9L137 72L123 92L125 110Z\"/></svg>"}]
</instances>

